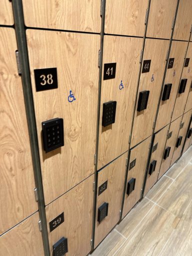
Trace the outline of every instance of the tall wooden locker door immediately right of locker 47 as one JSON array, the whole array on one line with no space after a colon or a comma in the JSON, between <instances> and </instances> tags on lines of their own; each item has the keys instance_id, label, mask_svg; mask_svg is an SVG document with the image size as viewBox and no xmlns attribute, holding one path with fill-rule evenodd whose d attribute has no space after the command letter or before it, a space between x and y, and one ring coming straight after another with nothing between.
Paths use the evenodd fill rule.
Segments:
<instances>
[{"instance_id":1,"label":"tall wooden locker door immediately right of locker 47","mask_svg":"<svg viewBox=\"0 0 192 256\"><path fill-rule=\"evenodd\" d=\"M175 120L178 116L183 114L188 93L192 95L192 93L190 93L192 90L192 88L190 87L192 86L192 83L191 83L192 82L192 42L190 42L188 45L186 58L189 58L189 64L187 67L185 66L183 67L182 75L181 75L181 79L187 79L186 87L183 93L177 93L172 120ZM189 95L189 97L191 96ZM191 105L189 107L192 108L192 97L191 97ZM187 108L188 108L188 105L187 105Z\"/></svg>"}]
</instances>

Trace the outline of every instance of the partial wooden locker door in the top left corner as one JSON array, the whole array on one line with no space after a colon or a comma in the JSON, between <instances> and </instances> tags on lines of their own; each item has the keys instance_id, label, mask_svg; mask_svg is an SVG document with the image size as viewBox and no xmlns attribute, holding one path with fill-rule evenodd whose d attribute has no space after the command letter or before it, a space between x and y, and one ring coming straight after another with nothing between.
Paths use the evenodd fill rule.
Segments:
<instances>
[{"instance_id":1,"label":"partial wooden locker door in the top left corner","mask_svg":"<svg viewBox=\"0 0 192 256\"><path fill-rule=\"evenodd\" d=\"M7 0L0 0L0 25L13 25L12 3Z\"/></svg>"}]
</instances>

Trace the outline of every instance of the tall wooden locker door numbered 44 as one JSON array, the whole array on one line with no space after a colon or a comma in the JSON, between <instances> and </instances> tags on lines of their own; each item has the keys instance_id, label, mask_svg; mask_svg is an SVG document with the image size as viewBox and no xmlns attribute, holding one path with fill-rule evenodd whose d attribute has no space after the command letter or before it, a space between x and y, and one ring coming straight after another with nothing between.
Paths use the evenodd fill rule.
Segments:
<instances>
[{"instance_id":1,"label":"tall wooden locker door numbered 44","mask_svg":"<svg viewBox=\"0 0 192 256\"><path fill-rule=\"evenodd\" d=\"M156 115L162 86L168 45L168 40L146 39L134 113L131 147L147 138L152 133L153 121ZM149 96L146 108L139 110L138 106L142 91L149 91Z\"/></svg>"}]
</instances>

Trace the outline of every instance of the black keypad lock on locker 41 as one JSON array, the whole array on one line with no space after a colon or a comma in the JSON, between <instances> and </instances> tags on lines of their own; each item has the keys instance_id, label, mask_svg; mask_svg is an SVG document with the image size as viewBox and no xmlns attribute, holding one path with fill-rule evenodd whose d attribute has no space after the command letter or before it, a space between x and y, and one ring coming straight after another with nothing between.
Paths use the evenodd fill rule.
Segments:
<instances>
[{"instance_id":1,"label":"black keypad lock on locker 41","mask_svg":"<svg viewBox=\"0 0 192 256\"><path fill-rule=\"evenodd\" d=\"M116 101L108 101L103 103L102 109L102 126L114 123L116 112Z\"/></svg>"}]
</instances>

